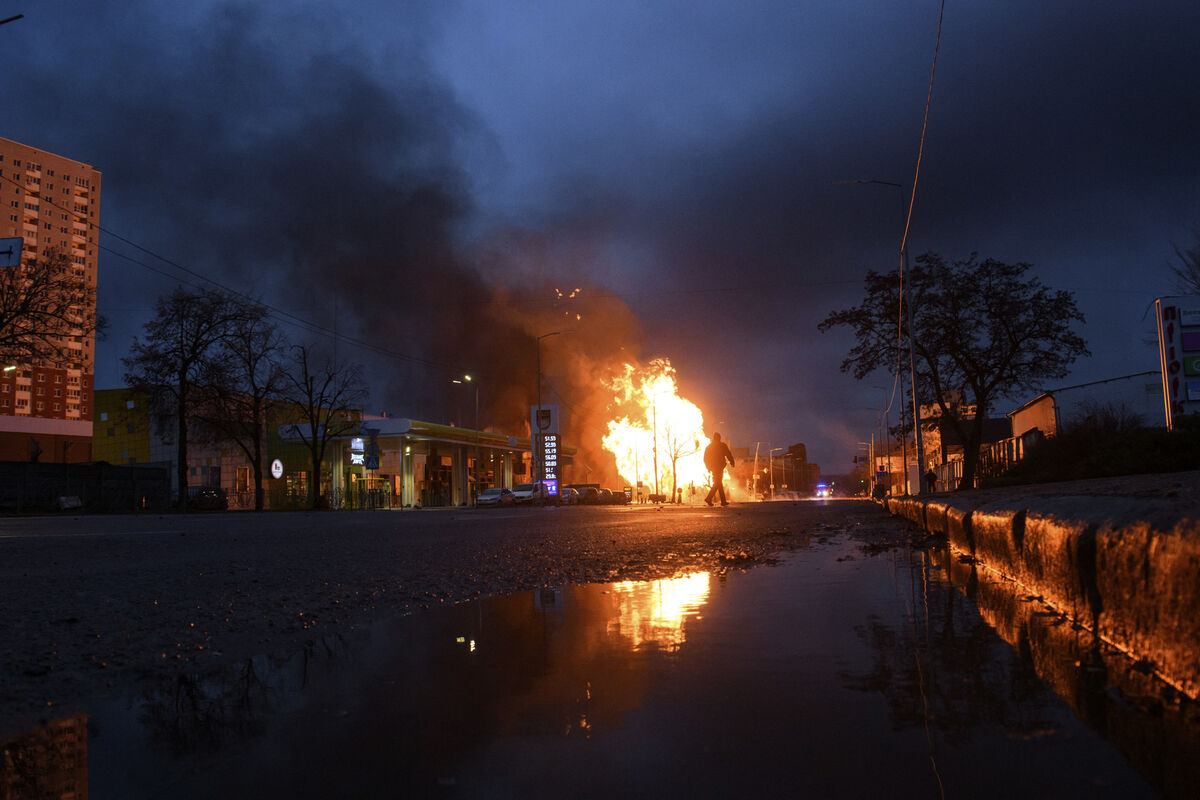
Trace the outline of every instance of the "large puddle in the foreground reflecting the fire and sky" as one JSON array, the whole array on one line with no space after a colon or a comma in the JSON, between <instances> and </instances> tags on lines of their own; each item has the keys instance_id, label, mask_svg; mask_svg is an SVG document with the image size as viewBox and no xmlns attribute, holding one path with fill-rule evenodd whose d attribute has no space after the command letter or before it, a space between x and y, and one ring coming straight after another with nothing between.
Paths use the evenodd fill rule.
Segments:
<instances>
[{"instance_id":1,"label":"large puddle in the foreground reflecting the fire and sky","mask_svg":"<svg viewBox=\"0 0 1200 800\"><path fill-rule=\"evenodd\" d=\"M0 796L1194 790L1188 715L1133 699L1078 632L1055 644L1036 603L994 610L1001 589L835 537L748 572L463 603L97 703L7 742Z\"/></svg>"}]
</instances>

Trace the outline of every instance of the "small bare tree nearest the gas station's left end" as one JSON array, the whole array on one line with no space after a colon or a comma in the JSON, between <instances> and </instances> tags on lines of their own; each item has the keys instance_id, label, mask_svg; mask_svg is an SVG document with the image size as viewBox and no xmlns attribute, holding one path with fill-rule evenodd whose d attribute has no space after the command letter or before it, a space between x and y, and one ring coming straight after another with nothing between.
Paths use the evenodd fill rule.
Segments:
<instances>
[{"instance_id":1,"label":"small bare tree nearest the gas station's left end","mask_svg":"<svg viewBox=\"0 0 1200 800\"><path fill-rule=\"evenodd\" d=\"M292 366L283 374L283 401L293 435L308 449L312 465L308 485L312 487L312 507L323 505L320 492L320 464L325 450L336 437L359 429L359 407L366 398L359 367L337 367L332 361L317 363L312 348L293 348Z\"/></svg>"}]
</instances>

